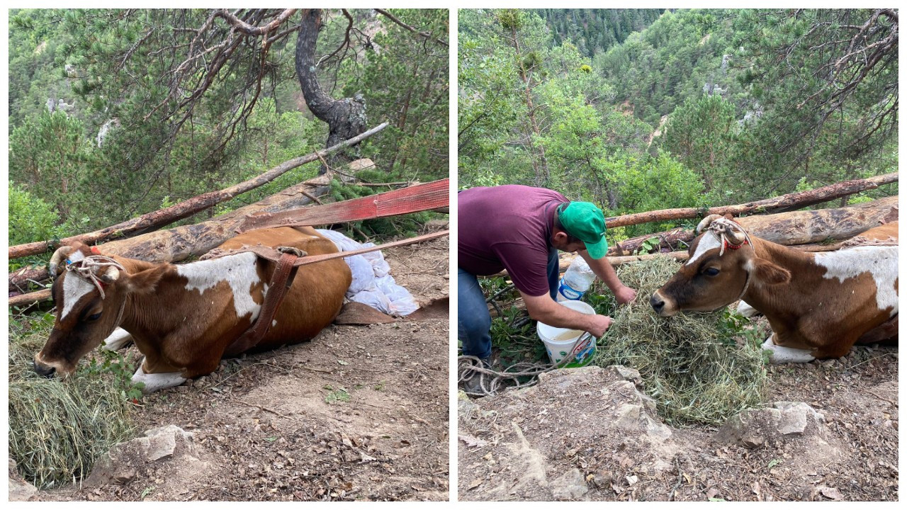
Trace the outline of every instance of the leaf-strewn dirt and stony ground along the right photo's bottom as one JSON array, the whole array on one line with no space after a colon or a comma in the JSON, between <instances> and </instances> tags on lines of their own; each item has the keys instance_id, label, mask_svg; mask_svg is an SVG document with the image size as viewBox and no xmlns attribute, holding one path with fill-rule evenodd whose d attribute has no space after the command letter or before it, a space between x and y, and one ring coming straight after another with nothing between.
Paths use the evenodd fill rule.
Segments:
<instances>
[{"instance_id":1,"label":"leaf-strewn dirt and stony ground along the right photo's bottom","mask_svg":"<svg viewBox=\"0 0 907 510\"><path fill-rule=\"evenodd\" d=\"M564 378L522 395L461 394L459 498L897 501L898 357L897 348L857 347L770 367L766 405L804 402L824 427L752 448L722 440L717 427L665 426L651 412L639 413L643 425L615 425L619 410L646 407L644 383L618 380L609 394L609 381ZM627 385L634 395L620 396Z\"/></svg>"}]
</instances>

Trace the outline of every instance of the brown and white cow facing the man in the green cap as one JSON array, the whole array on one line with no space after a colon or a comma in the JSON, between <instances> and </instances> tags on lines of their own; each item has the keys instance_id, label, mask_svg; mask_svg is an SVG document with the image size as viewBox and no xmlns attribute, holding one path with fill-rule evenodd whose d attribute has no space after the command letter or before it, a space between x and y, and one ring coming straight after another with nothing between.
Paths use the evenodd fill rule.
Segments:
<instances>
[{"instance_id":1,"label":"brown and white cow facing the man in the green cap","mask_svg":"<svg viewBox=\"0 0 907 510\"><path fill-rule=\"evenodd\" d=\"M697 226L689 259L650 303L658 315L713 310L743 299L765 314L773 363L839 358L858 340L896 338L897 222L861 237L893 246L810 253L749 236L715 214Z\"/></svg>"}]
</instances>

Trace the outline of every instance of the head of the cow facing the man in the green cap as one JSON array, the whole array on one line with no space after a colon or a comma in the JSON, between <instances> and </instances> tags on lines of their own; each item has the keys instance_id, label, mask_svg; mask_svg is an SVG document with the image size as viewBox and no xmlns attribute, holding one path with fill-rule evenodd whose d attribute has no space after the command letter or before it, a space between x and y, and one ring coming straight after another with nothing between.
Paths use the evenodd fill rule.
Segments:
<instances>
[{"instance_id":1,"label":"head of the cow facing the man in the green cap","mask_svg":"<svg viewBox=\"0 0 907 510\"><path fill-rule=\"evenodd\" d=\"M687 262L649 299L658 315L719 309L740 299L750 285L790 280L789 271L756 256L746 231L729 218L711 214L696 231Z\"/></svg>"}]
</instances>

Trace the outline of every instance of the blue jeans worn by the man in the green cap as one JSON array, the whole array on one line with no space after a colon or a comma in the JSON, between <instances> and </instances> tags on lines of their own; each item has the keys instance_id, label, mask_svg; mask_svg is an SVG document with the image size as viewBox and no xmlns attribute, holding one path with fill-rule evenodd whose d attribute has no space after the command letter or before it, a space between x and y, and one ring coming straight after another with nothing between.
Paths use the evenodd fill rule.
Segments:
<instances>
[{"instance_id":1,"label":"blue jeans worn by the man in the green cap","mask_svg":"<svg viewBox=\"0 0 907 510\"><path fill-rule=\"evenodd\" d=\"M558 293L561 267L558 250L548 252L548 288L551 299ZM472 273L457 268L457 338L463 344L463 356L488 359L492 356L492 316L488 313L479 280Z\"/></svg>"}]
</instances>

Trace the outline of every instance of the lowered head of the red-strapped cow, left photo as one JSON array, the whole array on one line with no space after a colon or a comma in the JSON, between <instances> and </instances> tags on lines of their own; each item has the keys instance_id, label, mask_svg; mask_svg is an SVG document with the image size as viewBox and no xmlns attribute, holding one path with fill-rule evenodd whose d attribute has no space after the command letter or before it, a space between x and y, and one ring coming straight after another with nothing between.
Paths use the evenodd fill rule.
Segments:
<instances>
[{"instance_id":1,"label":"lowered head of the red-strapped cow, left photo","mask_svg":"<svg viewBox=\"0 0 907 510\"><path fill-rule=\"evenodd\" d=\"M121 264L78 242L54 252L54 330L34 356L34 371L68 376L85 354L120 325L134 282Z\"/></svg>"}]
</instances>

